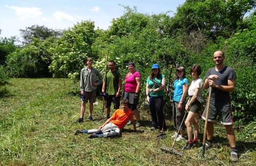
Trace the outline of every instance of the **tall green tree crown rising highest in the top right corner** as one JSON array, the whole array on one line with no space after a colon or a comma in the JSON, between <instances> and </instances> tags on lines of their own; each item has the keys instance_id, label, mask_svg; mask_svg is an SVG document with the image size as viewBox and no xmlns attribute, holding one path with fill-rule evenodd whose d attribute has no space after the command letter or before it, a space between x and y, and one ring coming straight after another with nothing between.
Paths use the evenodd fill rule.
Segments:
<instances>
[{"instance_id":1,"label":"tall green tree crown rising highest in the top right corner","mask_svg":"<svg viewBox=\"0 0 256 166\"><path fill-rule=\"evenodd\" d=\"M212 40L227 39L255 6L256 0L186 0L172 18L171 33L203 31Z\"/></svg>"}]
</instances>

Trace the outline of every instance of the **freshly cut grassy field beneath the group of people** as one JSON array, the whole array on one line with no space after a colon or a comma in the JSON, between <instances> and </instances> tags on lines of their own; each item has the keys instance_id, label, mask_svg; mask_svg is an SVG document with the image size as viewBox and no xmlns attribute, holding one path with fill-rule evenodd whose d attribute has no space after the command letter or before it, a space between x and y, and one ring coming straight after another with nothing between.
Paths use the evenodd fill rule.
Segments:
<instances>
[{"instance_id":1,"label":"freshly cut grassy field beneath the group of people","mask_svg":"<svg viewBox=\"0 0 256 166\"><path fill-rule=\"evenodd\" d=\"M158 140L157 131L150 131L149 108L140 111L142 133L126 126L121 137L88 139L87 134L74 135L75 129L95 129L103 124L85 121L75 124L80 115L79 84L70 79L11 79L0 93L0 165L256 165L255 142L240 139L244 130L236 130L239 162L229 159L229 143L224 126L216 124L214 147L198 158L201 150L182 150L185 141L176 142L174 149L183 157L160 149L171 147L174 134L168 119L168 137ZM98 97L93 118L101 118L102 98ZM114 111L111 110L111 114ZM86 116L88 115L88 106ZM105 113L104 115L105 116ZM200 142L204 121L200 119Z\"/></svg>"}]
</instances>

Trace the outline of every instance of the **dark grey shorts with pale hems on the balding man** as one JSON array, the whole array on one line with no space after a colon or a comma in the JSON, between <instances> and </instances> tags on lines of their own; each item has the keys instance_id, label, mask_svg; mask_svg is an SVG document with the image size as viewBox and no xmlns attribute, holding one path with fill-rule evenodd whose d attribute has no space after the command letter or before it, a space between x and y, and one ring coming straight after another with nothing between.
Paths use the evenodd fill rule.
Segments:
<instances>
[{"instance_id":1,"label":"dark grey shorts with pale hems on the balding man","mask_svg":"<svg viewBox=\"0 0 256 166\"><path fill-rule=\"evenodd\" d=\"M202 118L205 120L206 116L206 109L208 99L206 100L206 107L202 114ZM208 115L208 122L215 122L217 119L217 115L220 117L220 122L223 125L233 125L233 116L231 110L231 103L230 102L214 102L210 100L210 107L209 107L209 115Z\"/></svg>"}]
</instances>

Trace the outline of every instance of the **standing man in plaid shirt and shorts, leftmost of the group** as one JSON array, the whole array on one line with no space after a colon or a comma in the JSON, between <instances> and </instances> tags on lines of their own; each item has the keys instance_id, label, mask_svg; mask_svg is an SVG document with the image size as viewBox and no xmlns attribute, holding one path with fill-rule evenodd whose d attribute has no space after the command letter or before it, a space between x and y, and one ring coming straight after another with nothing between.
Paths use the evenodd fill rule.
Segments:
<instances>
[{"instance_id":1,"label":"standing man in plaid shirt and shorts, leftmost of the group","mask_svg":"<svg viewBox=\"0 0 256 166\"><path fill-rule=\"evenodd\" d=\"M80 88L81 88L81 113L80 118L75 120L75 122L83 122L83 116L85 112L86 103L89 99L89 116L88 120L92 119L92 110L93 110L93 103L96 101L96 89L99 84L102 83L103 77L101 73L92 67L92 58L87 58L87 67L81 70L81 80L80 80Z\"/></svg>"}]
</instances>

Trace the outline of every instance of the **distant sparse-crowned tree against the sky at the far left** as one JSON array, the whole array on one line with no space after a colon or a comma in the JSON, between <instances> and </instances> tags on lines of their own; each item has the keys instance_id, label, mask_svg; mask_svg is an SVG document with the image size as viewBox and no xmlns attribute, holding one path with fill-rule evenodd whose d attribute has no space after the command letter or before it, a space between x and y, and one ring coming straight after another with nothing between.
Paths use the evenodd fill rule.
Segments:
<instances>
[{"instance_id":1,"label":"distant sparse-crowned tree against the sky at the far left","mask_svg":"<svg viewBox=\"0 0 256 166\"><path fill-rule=\"evenodd\" d=\"M49 29L47 27L32 25L31 27L26 27L26 29L20 29L20 35L23 37L24 45L32 42L32 37L40 40L46 40L49 37L56 36L60 37L62 35L62 30L60 29Z\"/></svg>"}]
</instances>

